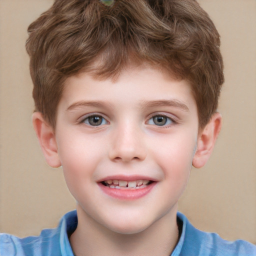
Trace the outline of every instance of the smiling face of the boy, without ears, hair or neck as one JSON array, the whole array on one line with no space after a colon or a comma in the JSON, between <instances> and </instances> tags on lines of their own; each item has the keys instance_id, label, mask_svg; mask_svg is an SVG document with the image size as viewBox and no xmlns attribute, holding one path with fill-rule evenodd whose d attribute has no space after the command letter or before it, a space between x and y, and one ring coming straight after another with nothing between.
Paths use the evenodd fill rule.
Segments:
<instances>
[{"instance_id":1,"label":"smiling face of the boy, without ears, hair or neck","mask_svg":"<svg viewBox=\"0 0 256 256\"><path fill-rule=\"evenodd\" d=\"M197 133L188 82L150 67L116 81L72 76L57 108L58 157L80 212L120 233L176 214Z\"/></svg>"}]
</instances>

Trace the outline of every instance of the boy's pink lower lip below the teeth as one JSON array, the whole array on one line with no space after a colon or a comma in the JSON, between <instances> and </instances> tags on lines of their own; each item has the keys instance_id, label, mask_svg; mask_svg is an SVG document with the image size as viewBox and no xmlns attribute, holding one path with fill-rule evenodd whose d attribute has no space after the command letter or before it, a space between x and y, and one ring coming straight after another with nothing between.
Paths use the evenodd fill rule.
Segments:
<instances>
[{"instance_id":1,"label":"boy's pink lower lip below the teeth","mask_svg":"<svg viewBox=\"0 0 256 256\"><path fill-rule=\"evenodd\" d=\"M135 199L141 198L146 194L148 194L155 184L156 182L152 182L146 187L137 188L137 189L134 189L134 188L118 189L118 188L111 188L111 187L105 186L100 182L98 183L99 187L103 190L104 193L120 200L135 200Z\"/></svg>"}]
</instances>

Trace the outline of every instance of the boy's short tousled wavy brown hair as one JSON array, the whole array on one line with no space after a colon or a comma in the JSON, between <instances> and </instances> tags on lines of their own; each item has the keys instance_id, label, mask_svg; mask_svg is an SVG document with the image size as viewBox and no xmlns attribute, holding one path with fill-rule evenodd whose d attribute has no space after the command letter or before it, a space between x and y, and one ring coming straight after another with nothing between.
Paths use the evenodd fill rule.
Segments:
<instances>
[{"instance_id":1,"label":"boy's short tousled wavy brown hair","mask_svg":"<svg viewBox=\"0 0 256 256\"><path fill-rule=\"evenodd\" d=\"M80 71L118 75L130 59L187 79L200 126L216 111L223 83L219 34L195 0L116 0L112 6L55 0L28 33L35 110L53 127L68 76Z\"/></svg>"}]
</instances>

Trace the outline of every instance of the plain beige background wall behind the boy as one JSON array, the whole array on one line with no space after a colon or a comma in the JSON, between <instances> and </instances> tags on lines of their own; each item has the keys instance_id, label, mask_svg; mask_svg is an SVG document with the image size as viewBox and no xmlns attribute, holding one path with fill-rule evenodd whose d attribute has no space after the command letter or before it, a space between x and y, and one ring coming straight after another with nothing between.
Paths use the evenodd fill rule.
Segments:
<instances>
[{"instance_id":1,"label":"plain beige background wall behind the boy","mask_svg":"<svg viewBox=\"0 0 256 256\"><path fill-rule=\"evenodd\" d=\"M256 243L256 1L199 0L222 38L224 122L213 155L193 169L179 209L226 239ZM53 227L75 202L46 165L31 125L26 28L52 0L0 0L0 231Z\"/></svg>"}]
</instances>

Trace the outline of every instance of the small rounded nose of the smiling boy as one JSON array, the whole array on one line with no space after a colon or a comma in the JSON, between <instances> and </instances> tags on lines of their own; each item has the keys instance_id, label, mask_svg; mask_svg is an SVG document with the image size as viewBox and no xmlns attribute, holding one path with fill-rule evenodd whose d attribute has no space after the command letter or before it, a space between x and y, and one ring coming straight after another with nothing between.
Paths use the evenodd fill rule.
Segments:
<instances>
[{"instance_id":1,"label":"small rounded nose of the smiling boy","mask_svg":"<svg viewBox=\"0 0 256 256\"><path fill-rule=\"evenodd\" d=\"M144 160L146 148L143 141L143 132L135 125L126 124L113 130L109 158L115 161L129 162Z\"/></svg>"}]
</instances>

